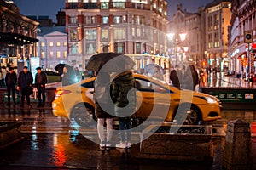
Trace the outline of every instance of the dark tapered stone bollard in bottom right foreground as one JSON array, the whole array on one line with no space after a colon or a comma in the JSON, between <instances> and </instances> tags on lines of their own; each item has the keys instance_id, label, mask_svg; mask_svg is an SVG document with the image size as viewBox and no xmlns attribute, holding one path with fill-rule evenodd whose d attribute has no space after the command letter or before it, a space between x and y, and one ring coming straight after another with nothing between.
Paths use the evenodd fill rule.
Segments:
<instances>
[{"instance_id":1,"label":"dark tapered stone bollard in bottom right foreground","mask_svg":"<svg viewBox=\"0 0 256 170\"><path fill-rule=\"evenodd\" d=\"M228 122L223 167L226 170L251 170L253 168L250 123L241 120Z\"/></svg>"}]
</instances>

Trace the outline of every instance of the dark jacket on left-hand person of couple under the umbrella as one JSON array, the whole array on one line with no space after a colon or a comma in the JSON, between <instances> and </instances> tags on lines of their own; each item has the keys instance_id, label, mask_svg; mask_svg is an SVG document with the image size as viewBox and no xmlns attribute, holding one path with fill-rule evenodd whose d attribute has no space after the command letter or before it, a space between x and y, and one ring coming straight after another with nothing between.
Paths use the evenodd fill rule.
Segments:
<instances>
[{"instance_id":1,"label":"dark jacket on left-hand person of couple under the umbrella","mask_svg":"<svg viewBox=\"0 0 256 170\"><path fill-rule=\"evenodd\" d=\"M110 96L110 77L108 73L97 77L94 82L93 99L96 104L95 115L97 118L113 118L113 102ZM109 113L109 114L108 114Z\"/></svg>"}]
</instances>

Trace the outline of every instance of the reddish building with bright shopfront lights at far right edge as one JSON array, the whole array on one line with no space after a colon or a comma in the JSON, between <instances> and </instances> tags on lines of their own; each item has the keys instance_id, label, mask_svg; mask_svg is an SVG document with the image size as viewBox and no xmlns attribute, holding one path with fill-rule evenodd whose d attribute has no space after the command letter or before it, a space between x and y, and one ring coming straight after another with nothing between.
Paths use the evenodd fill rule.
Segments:
<instances>
[{"instance_id":1,"label":"reddish building with bright shopfront lights at far right edge","mask_svg":"<svg viewBox=\"0 0 256 170\"><path fill-rule=\"evenodd\" d=\"M256 1L233 0L230 26L230 70L236 72L256 71ZM252 37L247 52L248 43L245 42L245 31L251 31ZM249 67L249 65L251 65Z\"/></svg>"}]
</instances>

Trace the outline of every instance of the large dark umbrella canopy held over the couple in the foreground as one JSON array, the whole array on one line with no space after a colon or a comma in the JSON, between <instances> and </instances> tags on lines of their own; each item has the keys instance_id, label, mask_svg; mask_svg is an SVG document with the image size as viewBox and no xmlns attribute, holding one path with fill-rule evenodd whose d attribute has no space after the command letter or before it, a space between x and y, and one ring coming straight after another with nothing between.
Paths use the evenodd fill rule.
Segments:
<instances>
[{"instance_id":1,"label":"large dark umbrella canopy held over the couple in the foreground","mask_svg":"<svg viewBox=\"0 0 256 170\"><path fill-rule=\"evenodd\" d=\"M123 71L124 69L131 69L135 62L128 56L119 53L101 53L92 55L85 66L88 71L107 72Z\"/></svg>"}]
</instances>

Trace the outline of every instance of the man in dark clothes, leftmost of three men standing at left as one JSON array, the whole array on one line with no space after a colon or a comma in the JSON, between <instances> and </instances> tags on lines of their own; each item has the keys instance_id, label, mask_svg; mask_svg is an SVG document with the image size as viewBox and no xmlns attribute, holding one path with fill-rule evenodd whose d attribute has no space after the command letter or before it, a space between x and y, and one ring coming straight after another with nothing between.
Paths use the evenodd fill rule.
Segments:
<instances>
[{"instance_id":1,"label":"man in dark clothes, leftmost of three men standing at left","mask_svg":"<svg viewBox=\"0 0 256 170\"><path fill-rule=\"evenodd\" d=\"M16 99L15 99L15 86L17 83L17 75L14 71L13 67L9 67L9 72L6 74L5 79L4 79L5 85L7 87L7 106L10 106L10 94L12 93L13 97L13 103L16 105Z\"/></svg>"}]
</instances>

